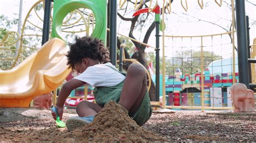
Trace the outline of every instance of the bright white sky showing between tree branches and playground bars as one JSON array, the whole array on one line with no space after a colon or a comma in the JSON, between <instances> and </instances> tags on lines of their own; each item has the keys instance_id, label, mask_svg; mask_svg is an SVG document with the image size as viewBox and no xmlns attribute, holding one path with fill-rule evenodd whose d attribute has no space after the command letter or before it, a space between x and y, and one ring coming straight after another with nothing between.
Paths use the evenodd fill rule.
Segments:
<instances>
[{"instance_id":1,"label":"bright white sky showing between tree branches and playground bars","mask_svg":"<svg viewBox=\"0 0 256 143\"><path fill-rule=\"evenodd\" d=\"M0 15L8 16L11 18L18 18L18 15L14 15L14 13L19 12L19 2L20 0L0 0ZM23 0L23 10L22 10L22 19L24 20L26 13L28 13L31 6L37 1L35 0ZM119 1L118 1L119 2ZM154 5L156 1L153 1L152 5ZM159 5L161 5L162 1L158 1ZM185 2L185 1L184 1ZM230 1L228 1L230 2ZM254 0L251 0L250 2L256 3ZM223 27L228 27L228 20L232 18L231 13L229 12L225 6L218 6L214 3L212 0L205 0L204 1L204 9L200 9L198 3L196 0L189 0L187 1L188 10L187 12L183 9L183 7L180 4L180 1L174 0L172 3L172 9L171 9L171 15L166 15L165 18L165 24L166 24L166 30L165 35L207 35L207 34L216 34L216 33L224 33L225 31L218 27L213 26L210 23L206 22L198 22L197 19L193 17L198 17L203 20L209 20L212 23L219 24ZM250 19L256 20L256 6L253 6L252 4L246 4L246 13L250 15ZM119 8L119 6L118 6ZM128 13L125 15L126 17L131 18L132 13ZM186 16L188 15L188 16ZM22 21L23 21L22 20ZM118 33L122 33L124 35L129 34L130 24L125 24L124 22L120 22L120 19L117 19L117 31ZM146 27L146 26L145 26ZM253 38L256 38L256 22L253 26L251 26L250 30L250 41L252 44ZM133 33L133 35L139 39L140 41L144 38L144 33L146 32L147 28L143 29L141 32L136 31ZM12 27L12 31L17 31L17 26ZM152 45L155 47L156 40L154 37L155 31L151 34L149 45ZM160 33L161 34L161 33ZM225 44L225 36L222 37L222 41L220 42L222 45ZM179 41L180 39L177 39L178 43L183 42L183 44L187 41L185 38ZM173 53L171 51L171 48L176 47L174 43L176 39L165 39L165 49L166 53ZM214 39L208 40L210 45L214 41ZM187 43L192 43L193 40L188 40ZM188 45L190 45L188 44ZM172 46L170 46L172 45ZM173 46L174 45L174 46ZM160 49L162 47L161 39L160 39ZM179 46L177 45L177 48ZM213 47L213 46L211 46ZM227 49L226 49L227 50ZM230 49L228 49L230 50ZM154 49L148 48L146 51L153 52ZM215 51L217 54L223 54L225 51ZM160 52L161 55L161 52Z\"/></svg>"}]
</instances>

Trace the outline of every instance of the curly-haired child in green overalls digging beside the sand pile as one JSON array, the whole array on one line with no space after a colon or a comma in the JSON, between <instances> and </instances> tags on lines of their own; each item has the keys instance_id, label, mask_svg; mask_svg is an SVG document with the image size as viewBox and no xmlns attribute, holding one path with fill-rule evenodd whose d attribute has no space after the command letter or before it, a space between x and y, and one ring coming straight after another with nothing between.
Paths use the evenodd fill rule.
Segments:
<instances>
[{"instance_id":1,"label":"curly-haired child in green overalls digging beside the sand pile","mask_svg":"<svg viewBox=\"0 0 256 143\"><path fill-rule=\"evenodd\" d=\"M137 63L132 63L126 75L120 73L110 62L109 52L101 40L91 37L76 38L69 44L68 66L80 75L66 82L59 92L56 108L62 120L63 106L73 89L83 85L95 87L96 103L82 101L77 105L79 117L66 120L68 130L91 123L95 115L110 100L116 101L120 108L140 126L150 118L152 109L146 86L146 71ZM56 113L52 112L56 120Z\"/></svg>"}]
</instances>

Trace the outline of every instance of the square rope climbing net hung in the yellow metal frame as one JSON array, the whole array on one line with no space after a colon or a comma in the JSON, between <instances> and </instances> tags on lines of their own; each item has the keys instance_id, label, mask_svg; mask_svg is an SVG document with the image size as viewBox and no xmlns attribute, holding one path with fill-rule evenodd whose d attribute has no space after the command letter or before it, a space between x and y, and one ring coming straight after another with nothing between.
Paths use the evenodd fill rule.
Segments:
<instances>
[{"instance_id":1,"label":"square rope climbing net hung in the yellow metal frame","mask_svg":"<svg viewBox=\"0 0 256 143\"><path fill-rule=\"evenodd\" d=\"M230 33L165 36L166 105L232 107L230 87L238 82ZM233 71L235 66L235 71ZM235 75L235 78L233 78Z\"/></svg>"}]
</instances>

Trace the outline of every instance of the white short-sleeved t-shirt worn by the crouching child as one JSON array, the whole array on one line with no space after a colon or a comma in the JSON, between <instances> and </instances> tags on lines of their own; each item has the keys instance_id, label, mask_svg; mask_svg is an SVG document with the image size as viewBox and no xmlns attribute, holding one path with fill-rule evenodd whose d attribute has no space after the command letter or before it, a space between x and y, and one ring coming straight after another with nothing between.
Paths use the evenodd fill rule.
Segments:
<instances>
[{"instance_id":1,"label":"white short-sleeved t-shirt worn by the crouching child","mask_svg":"<svg viewBox=\"0 0 256 143\"><path fill-rule=\"evenodd\" d=\"M74 78L93 87L111 87L122 82L125 76L108 66L116 68L110 62L97 64L88 67L82 74Z\"/></svg>"}]
</instances>

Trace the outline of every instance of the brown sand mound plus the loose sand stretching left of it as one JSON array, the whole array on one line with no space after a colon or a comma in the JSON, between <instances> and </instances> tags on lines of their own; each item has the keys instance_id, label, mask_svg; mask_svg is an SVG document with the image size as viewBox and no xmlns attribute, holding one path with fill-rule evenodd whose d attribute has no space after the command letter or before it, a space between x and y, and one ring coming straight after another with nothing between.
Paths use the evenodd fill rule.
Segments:
<instances>
[{"instance_id":1,"label":"brown sand mound plus the loose sand stretching left of it","mask_svg":"<svg viewBox=\"0 0 256 143\"><path fill-rule=\"evenodd\" d=\"M64 117L64 120L66 118L68 117ZM5 127L0 126L0 141L167 141L165 137L160 137L160 135L147 131L145 128L138 126L136 122L132 120L122 109L120 109L115 102L106 104L104 108L96 115L92 123L76 128L71 132L66 128L56 128L55 121L53 119L50 120L52 120L51 124L49 124L49 120L39 118L15 121L7 124L5 123Z\"/></svg>"}]
</instances>

